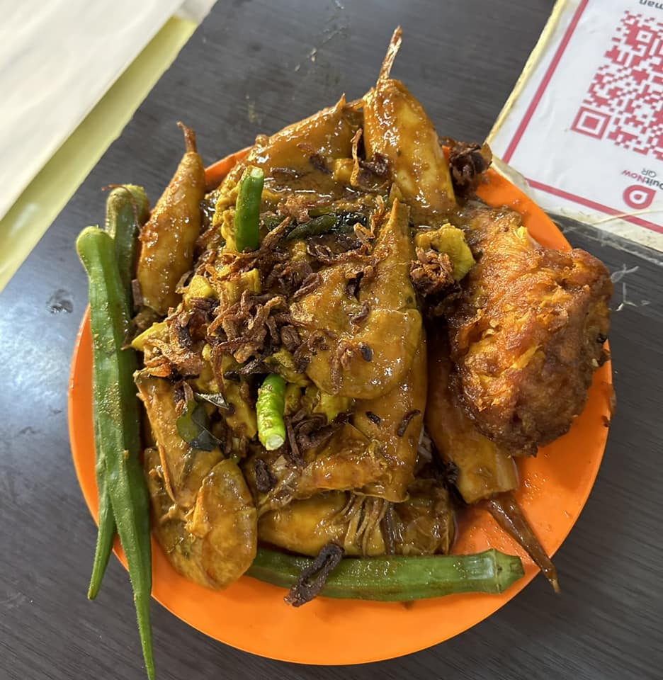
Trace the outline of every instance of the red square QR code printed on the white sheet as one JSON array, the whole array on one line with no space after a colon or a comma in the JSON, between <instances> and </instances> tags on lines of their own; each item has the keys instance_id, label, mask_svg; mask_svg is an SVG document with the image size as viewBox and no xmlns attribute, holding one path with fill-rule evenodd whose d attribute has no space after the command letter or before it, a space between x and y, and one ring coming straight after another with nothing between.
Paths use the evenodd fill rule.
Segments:
<instances>
[{"instance_id":1,"label":"red square QR code printed on the white sheet","mask_svg":"<svg viewBox=\"0 0 663 680\"><path fill-rule=\"evenodd\" d=\"M663 23L624 13L571 129L663 160Z\"/></svg>"}]
</instances>

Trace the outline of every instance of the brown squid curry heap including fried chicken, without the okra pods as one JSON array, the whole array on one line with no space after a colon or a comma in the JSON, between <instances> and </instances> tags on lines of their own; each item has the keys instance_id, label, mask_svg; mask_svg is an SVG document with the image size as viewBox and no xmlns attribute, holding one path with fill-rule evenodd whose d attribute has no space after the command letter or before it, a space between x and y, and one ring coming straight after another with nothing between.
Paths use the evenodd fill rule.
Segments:
<instances>
[{"instance_id":1,"label":"brown squid curry heap including fried chicken, without the okra pods","mask_svg":"<svg viewBox=\"0 0 663 680\"><path fill-rule=\"evenodd\" d=\"M476 198L490 151L442 145L390 77L399 43L363 98L259 136L220 186L184 128L142 228L152 528L205 587L242 576L260 544L449 553L455 512L482 503L557 588L511 494L514 456L582 412L610 277Z\"/></svg>"}]
</instances>

